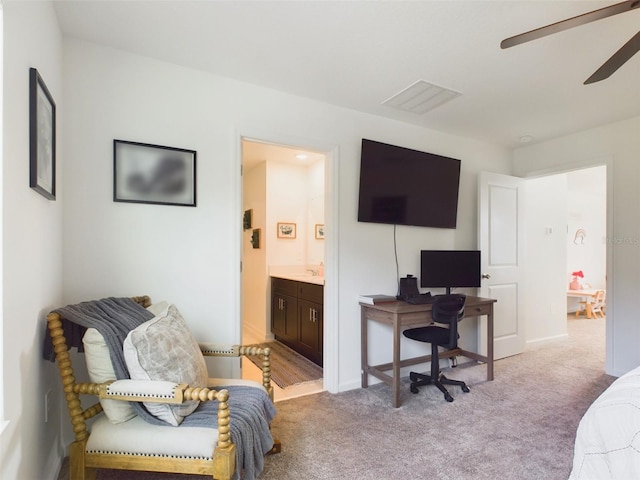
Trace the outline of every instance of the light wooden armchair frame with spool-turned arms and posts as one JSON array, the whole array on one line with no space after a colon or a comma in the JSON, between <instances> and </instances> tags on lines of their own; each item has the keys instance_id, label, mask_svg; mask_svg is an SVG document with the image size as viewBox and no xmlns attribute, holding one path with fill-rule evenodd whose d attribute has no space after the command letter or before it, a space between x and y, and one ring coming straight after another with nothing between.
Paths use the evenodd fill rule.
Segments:
<instances>
[{"instance_id":1,"label":"light wooden armchair frame with spool-turned arms and posts","mask_svg":"<svg viewBox=\"0 0 640 480\"><path fill-rule=\"evenodd\" d=\"M148 296L132 297L143 307L149 307L151 300ZM235 445L231 441L231 427L227 390L211 388L192 388L186 384L175 389L174 398L150 399L130 395L113 395L107 392L112 382L105 383L77 383L69 348L62 329L62 318L52 312L47 316L47 324L56 363L62 380L65 399L71 416L71 425L75 434L75 441L69 446L69 476L71 480L94 480L96 469L111 468L121 470L142 470L166 473L189 473L198 475L212 475L214 479L230 480L235 471ZM273 387L271 385L270 349L254 346L234 345L231 347L201 346L205 356L240 357L248 355L262 355L262 385L273 401ZM90 432L87 420L102 412L102 405L95 403L83 409L80 395L94 395L98 398L123 401L157 401L161 403L182 403L189 400L201 402L218 400L218 444L213 452L213 461L184 458L145 457L126 454L87 453L86 444ZM170 427L168 427L170 428ZM274 448L269 453L280 451L280 443L274 439Z\"/></svg>"}]
</instances>

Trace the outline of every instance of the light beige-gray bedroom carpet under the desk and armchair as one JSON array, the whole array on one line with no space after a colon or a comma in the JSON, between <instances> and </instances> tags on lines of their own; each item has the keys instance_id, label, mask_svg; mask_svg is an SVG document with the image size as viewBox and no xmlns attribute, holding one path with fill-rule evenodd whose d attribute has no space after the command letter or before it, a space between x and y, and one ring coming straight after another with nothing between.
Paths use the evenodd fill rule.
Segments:
<instances>
[{"instance_id":1,"label":"light beige-gray bedroom carpet under the desk and armchair","mask_svg":"<svg viewBox=\"0 0 640 480\"><path fill-rule=\"evenodd\" d=\"M273 431L282 452L261 480L566 480L580 418L614 380L604 372L604 320L569 320L566 341L447 374L471 392L405 380L402 406L378 384L277 404ZM98 480L174 480L175 475L101 471ZM209 477L184 477L205 479ZM61 476L60 480L67 480Z\"/></svg>"}]
</instances>

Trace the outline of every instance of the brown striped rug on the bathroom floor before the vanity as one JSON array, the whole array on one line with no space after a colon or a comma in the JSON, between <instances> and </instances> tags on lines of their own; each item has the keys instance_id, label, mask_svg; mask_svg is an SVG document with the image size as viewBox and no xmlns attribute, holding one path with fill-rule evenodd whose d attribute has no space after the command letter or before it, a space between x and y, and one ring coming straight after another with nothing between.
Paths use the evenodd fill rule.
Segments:
<instances>
[{"instance_id":1,"label":"brown striped rug on the bathroom floor before the vanity","mask_svg":"<svg viewBox=\"0 0 640 480\"><path fill-rule=\"evenodd\" d=\"M260 347L271 349L271 380L280 388L322 378L322 367L286 345L280 342L269 342L260 345ZM250 355L247 358L262 368L262 357Z\"/></svg>"}]
</instances>

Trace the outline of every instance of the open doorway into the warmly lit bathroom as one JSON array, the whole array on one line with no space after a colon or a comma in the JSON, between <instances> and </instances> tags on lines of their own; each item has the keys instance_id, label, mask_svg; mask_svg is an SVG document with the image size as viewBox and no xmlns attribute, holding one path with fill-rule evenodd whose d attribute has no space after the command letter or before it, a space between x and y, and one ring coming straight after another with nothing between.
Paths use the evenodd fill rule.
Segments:
<instances>
[{"instance_id":1,"label":"open doorway into the warmly lit bathroom","mask_svg":"<svg viewBox=\"0 0 640 480\"><path fill-rule=\"evenodd\" d=\"M286 274L291 281L309 280L323 288L325 160L324 153L307 148L242 140L242 343L278 341L278 348L303 355L293 355L293 365L286 368L304 368L309 355L296 348L295 338L277 338L279 332L272 328L272 277ZM324 329L318 331L321 355ZM276 368L272 364L272 374ZM242 376L260 380L260 371L246 360ZM278 401L321 391L323 380L274 388Z\"/></svg>"}]
</instances>

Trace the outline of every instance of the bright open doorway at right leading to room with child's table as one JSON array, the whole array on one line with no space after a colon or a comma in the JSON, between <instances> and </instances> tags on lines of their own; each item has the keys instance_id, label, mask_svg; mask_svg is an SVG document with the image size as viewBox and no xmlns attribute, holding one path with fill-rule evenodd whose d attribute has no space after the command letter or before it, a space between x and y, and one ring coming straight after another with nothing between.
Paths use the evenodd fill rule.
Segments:
<instances>
[{"instance_id":1,"label":"bright open doorway at right leading to room with child's table","mask_svg":"<svg viewBox=\"0 0 640 480\"><path fill-rule=\"evenodd\" d=\"M581 299L568 295L572 273L581 271L585 286L607 288L607 166L531 178L525 185L526 337L527 347L536 347L573 335L590 320L579 315L574 321ZM603 371L606 321L593 339L603 352Z\"/></svg>"}]
</instances>

